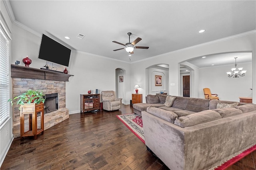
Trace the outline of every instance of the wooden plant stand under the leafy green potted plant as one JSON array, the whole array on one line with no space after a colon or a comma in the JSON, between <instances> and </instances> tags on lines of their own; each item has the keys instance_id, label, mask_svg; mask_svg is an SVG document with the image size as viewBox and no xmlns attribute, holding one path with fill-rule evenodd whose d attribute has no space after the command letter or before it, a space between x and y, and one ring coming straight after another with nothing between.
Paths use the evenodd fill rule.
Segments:
<instances>
[{"instance_id":1,"label":"wooden plant stand under the leafy green potted plant","mask_svg":"<svg viewBox=\"0 0 256 170\"><path fill-rule=\"evenodd\" d=\"M37 126L37 116L40 113L40 127ZM25 132L25 121L28 121L28 130ZM37 139L39 133L44 134L44 104L24 104L20 106L20 140L23 137L34 136Z\"/></svg>"}]
</instances>

